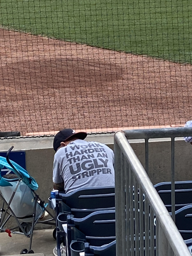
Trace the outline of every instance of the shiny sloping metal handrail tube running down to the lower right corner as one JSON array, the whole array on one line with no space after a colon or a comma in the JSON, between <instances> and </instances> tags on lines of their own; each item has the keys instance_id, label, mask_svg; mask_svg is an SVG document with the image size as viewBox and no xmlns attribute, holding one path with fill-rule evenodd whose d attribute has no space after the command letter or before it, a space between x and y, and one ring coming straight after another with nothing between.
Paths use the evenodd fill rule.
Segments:
<instances>
[{"instance_id":1,"label":"shiny sloping metal handrail tube running down to the lower right corner","mask_svg":"<svg viewBox=\"0 0 192 256\"><path fill-rule=\"evenodd\" d=\"M158 218L159 225L161 226L162 231L167 237L167 240L171 245L174 254L176 256L191 256L181 234L179 233L160 196L158 195L152 182L150 181L145 169L140 163L131 145L127 141L125 134L123 132L116 132L114 139L118 144L119 148L121 149L124 157L129 162L135 178L137 179L145 196L147 197L150 206L153 208L153 211ZM174 134L174 136L176 136L176 134Z\"/></svg>"}]
</instances>

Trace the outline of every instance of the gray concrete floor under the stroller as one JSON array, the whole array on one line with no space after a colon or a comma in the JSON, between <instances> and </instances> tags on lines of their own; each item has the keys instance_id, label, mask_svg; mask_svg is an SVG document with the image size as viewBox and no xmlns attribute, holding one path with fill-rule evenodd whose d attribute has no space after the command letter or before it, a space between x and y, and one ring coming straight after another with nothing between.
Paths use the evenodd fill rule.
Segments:
<instances>
[{"instance_id":1,"label":"gray concrete floor under the stroller","mask_svg":"<svg viewBox=\"0 0 192 256\"><path fill-rule=\"evenodd\" d=\"M34 230L32 250L34 253L44 253L46 256L53 256L53 248L56 241L53 236L53 229ZM12 234L9 237L7 233L0 233L0 255L19 254L24 248L28 249L29 238Z\"/></svg>"}]
</instances>

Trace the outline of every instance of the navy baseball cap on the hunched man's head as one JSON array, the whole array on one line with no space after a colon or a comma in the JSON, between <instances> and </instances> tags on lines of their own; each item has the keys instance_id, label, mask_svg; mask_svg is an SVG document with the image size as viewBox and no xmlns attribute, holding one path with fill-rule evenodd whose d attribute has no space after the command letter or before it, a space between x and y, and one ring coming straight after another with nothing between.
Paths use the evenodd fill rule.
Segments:
<instances>
[{"instance_id":1,"label":"navy baseball cap on the hunched man's head","mask_svg":"<svg viewBox=\"0 0 192 256\"><path fill-rule=\"evenodd\" d=\"M77 137L79 139L85 139L87 137L87 133L85 132L79 132L76 133L74 130L68 128L68 129L63 129L59 131L54 138L53 141L53 148L54 151L56 152L57 149L60 147L61 142L65 142L69 138L72 139L73 137Z\"/></svg>"}]
</instances>

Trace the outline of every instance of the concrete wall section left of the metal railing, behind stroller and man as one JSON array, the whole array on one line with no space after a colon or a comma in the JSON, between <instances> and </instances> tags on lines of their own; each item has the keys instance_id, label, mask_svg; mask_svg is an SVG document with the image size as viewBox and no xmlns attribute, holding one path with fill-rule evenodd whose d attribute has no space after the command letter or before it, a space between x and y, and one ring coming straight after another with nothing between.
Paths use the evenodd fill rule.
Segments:
<instances>
[{"instance_id":1,"label":"concrete wall section left of the metal railing, behind stroller and man","mask_svg":"<svg viewBox=\"0 0 192 256\"><path fill-rule=\"evenodd\" d=\"M54 153L53 138L21 138L0 140L0 152L7 151L12 145L13 151L25 151L26 169L36 179L39 196L45 201L53 189L52 168ZM87 140L106 142L113 148L113 136L111 134L91 135Z\"/></svg>"}]
</instances>

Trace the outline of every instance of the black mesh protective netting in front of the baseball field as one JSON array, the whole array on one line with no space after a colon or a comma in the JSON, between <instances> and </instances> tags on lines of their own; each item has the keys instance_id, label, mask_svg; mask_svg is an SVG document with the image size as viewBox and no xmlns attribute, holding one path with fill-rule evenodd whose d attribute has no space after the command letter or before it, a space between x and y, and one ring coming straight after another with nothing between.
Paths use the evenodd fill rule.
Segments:
<instances>
[{"instance_id":1,"label":"black mesh protective netting in front of the baseball field","mask_svg":"<svg viewBox=\"0 0 192 256\"><path fill-rule=\"evenodd\" d=\"M1 0L0 25L1 132L191 119L189 0Z\"/></svg>"}]
</instances>

